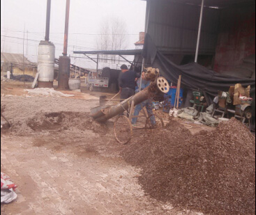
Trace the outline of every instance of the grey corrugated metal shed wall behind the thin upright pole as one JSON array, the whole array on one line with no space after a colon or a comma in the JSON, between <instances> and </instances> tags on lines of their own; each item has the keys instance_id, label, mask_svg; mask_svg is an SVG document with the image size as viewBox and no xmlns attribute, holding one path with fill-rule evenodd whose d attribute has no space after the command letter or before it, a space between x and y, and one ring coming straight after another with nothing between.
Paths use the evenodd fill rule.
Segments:
<instances>
[{"instance_id":1,"label":"grey corrugated metal shed wall behind the thin upright pole","mask_svg":"<svg viewBox=\"0 0 256 215\"><path fill-rule=\"evenodd\" d=\"M170 1L148 1L148 33L160 51L195 54L200 7ZM214 54L220 10L205 8L199 54Z\"/></svg>"}]
</instances>

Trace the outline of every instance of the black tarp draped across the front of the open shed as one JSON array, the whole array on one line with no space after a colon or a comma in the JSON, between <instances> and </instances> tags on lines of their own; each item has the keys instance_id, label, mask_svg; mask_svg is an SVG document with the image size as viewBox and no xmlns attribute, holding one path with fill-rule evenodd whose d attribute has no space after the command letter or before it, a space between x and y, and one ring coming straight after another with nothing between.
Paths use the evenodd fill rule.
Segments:
<instances>
[{"instance_id":1,"label":"black tarp draped across the front of the open shed","mask_svg":"<svg viewBox=\"0 0 256 215\"><path fill-rule=\"evenodd\" d=\"M169 81L176 84L179 75L181 75L182 88L201 90L208 105L218 95L218 90L228 91L230 86L234 86L236 83L241 83L243 87L251 86L250 96L254 99L253 112L255 112L255 79L243 79L219 74L197 63L176 65L158 51L149 33L145 37L143 56L146 63L158 67L160 74Z\"/></svg>"}]
</instances>

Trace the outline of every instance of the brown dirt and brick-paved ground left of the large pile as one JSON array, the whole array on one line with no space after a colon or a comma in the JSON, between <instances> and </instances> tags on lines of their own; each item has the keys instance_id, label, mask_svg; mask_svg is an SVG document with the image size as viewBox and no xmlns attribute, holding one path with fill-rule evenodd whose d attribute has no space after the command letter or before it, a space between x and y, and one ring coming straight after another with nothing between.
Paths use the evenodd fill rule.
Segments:
<instances>
[{"instance_id":1,"label":"brown dirt and brick-paved ground left of the large pile","mask_svg":"<svg viewBox=\"0 0 256 215\"><path fill-rule=\"evenodd\" d=\"M1 214L199 214L145 196L140 169L120 155L126 146L114 140L113 120L99 125L89 117L101 93L30 96L24 91L30 85L1 84L12 124L1 131L1 172L18 186L17 200L1 205Z\"/></svg>"}]
</instances>

